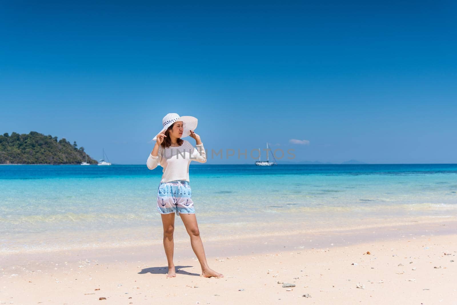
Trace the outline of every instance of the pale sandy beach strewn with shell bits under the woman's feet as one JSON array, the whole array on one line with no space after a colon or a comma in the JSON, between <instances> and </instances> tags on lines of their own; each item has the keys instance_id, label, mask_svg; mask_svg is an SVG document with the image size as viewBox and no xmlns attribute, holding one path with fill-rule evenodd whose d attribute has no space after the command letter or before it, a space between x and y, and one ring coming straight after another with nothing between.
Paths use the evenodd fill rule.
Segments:
<instances>
[{"instance_id":1,"label":"pale sandy beach strewn with shell bits under the woman's feet","mask_svg":"<svg viewBox=\"0 0 457 305\"><path fill-rule=\"evenodd\" d=\"M157 244L14 254L2 258L0 301L455 304L456 224L440 221L226 242L205 242L202 236L210 267L224 274L219 279L199 276L200 264L188 241L175 242L175 278L165 276L165 253ZM283 288L281 282L295 287Z\"/></svg>"}]
</instances>

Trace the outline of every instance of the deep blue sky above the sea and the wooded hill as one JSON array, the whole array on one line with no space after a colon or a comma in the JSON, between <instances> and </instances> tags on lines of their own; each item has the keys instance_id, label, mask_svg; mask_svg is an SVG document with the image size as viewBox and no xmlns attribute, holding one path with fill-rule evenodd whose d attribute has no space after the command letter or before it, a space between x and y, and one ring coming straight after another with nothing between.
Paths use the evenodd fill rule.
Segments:
<instances>
[{"instance_id":1,"label":"deep blue sky above the sea and the wooded hill","mask_svg":"<svg viewBox=\"0 0 457 305\"><path fill-rule=\"evenodd\" d=\"M207 164L266 141L294 162L457 163L451 1L59 2L0 4L1 134L143 164L176 112L223 149Z\"/></svg>"}]
</instances>

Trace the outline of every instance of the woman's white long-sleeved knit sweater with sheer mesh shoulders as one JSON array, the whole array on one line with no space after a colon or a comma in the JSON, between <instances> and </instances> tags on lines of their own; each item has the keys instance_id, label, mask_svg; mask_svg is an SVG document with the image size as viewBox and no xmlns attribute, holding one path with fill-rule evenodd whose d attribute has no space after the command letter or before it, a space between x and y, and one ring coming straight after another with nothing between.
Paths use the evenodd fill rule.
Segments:
<instances>
[{"instance_id":1,"label":"woman's white long-sleeved knit sweater with sheer mesh shoulders","mask_svg":"<svg viewBox=\"0 0 457 305\"><path fill-rule=\"evenodd\" d=\"M173 180L186 180L189 181L189 165L191 161L200 163L206 162L206 152L202 144L195 145L186 140L183 140L179 147L166 147L159 146L157 157L149 154L146 165L149 169L154 169L160 165L162 170L162 180L160 182L170 182Z\"/></svg>"}]
</instances>

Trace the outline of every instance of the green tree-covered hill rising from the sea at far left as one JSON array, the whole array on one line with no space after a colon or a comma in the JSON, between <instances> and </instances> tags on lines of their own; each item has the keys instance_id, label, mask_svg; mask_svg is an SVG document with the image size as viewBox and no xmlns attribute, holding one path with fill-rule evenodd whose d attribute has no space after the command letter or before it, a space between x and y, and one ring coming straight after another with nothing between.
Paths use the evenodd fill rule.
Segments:
<instances>
[{"instance_id":1,"label":"green tree-covered hill rising from the sea at far left","mask_svg":"<svg viewBox=\"0 0 457 305\"><path fill-rule=\"evenodd\" d=\"M0 135L0 164L80 164L85 161L84 147L62 138L30 131ZM87 162L97 161L87 155Z\"/></svg>"}]
</instances>

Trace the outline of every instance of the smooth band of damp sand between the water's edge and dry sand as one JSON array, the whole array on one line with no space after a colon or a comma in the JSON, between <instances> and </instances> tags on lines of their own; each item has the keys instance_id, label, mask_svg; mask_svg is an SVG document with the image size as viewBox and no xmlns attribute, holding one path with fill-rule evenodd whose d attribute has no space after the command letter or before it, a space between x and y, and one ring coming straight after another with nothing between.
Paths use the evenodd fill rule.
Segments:
<instances>
[{"instance_id":1,"label":"smooth band of damp sand between the water's edge and dry sand","mask_svg":"<svg viewBox=\"0 0 457 305\"><path fill-rule=\"evenodd\" d=\"M175 221L180 221L176 219ZM201 225L200 225L201 226ZM372 242L374 240L392 241L395 238L421 235L456 235L457 236L457 220L449 221L429 221L419 223L400 224L387 223L377 226L366 227L339 227L319 230L309 230L308 228L292 232L275 232L270 234L256 234L255 237L224 237L209 236L201 231L203 246L207 255L216 256L218 252L232 251L236 255L247 255L251 252L267 253L270 251L279 251L282 247L292 248L293 245L300 244L299 247L343 247L356 245L364 242ZM184 225L180 223L175 225L174 234L175 247L190 247L189 237L186 233ZM231 245L243 245L243 248L231 248ZM107 258L116 252L122 255L124 252L137 253L139 257L147 256L148 252L161 253L163 251L163 243L160 238L154 242L146 244L117 244L103 245L101 247L82 247L69 249L51 249L51 250L35 250L28 252L7 252L2 253L2 267L11 265L20 266L21 261L36 261L44 263L49 258L58 260L60 258L70 259L74 256L97 257L105 256ZM104 254L105 253L105 254ZM139 254L138 254L139 253ZM194 253L191 252L193 255ZM165 252L163 253L165 257ZM43 259L40 261L40 259ZM60 259L62 260L62 259ZM11 262L11 263L7 263Z\"/></svg>"}]
</instances>

